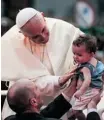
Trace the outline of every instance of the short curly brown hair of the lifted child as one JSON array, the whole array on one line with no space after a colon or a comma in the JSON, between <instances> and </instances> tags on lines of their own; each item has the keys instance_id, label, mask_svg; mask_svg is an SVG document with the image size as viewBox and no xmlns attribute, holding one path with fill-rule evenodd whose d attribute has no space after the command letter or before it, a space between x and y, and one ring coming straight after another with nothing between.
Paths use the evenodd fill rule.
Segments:
<instances>
[{"instance_id":1,"label":"short curly brown hair of the lifted child","mask_svg":"<svg viewBox=\"0 0 104 120\"><path fill-rule=\"evenodd\" d=\"M81 46L85 45L86 51L89 53L95 53L97 50L97 39L91 35L79 36L76 40L73 41L73 45Z\"/></svg>"}]
</instances>

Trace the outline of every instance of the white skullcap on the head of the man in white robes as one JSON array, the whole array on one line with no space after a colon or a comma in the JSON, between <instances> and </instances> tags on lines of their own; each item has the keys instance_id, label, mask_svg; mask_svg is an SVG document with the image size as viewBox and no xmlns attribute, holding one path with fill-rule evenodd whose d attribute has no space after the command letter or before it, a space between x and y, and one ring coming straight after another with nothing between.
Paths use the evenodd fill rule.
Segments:
<instances>
[{"instance_id":1,"label":"white skullcap on the head of the man in white robes","mask_svg":"<svg viewBox=\"0 0 104 120\"><path fill-rule=\"evenodd\" d=\"M37 13L39 12L33 8L24 8L20 10L16 17L16 25L18 28L24 26Z\"/></svg>"}]
</instances>

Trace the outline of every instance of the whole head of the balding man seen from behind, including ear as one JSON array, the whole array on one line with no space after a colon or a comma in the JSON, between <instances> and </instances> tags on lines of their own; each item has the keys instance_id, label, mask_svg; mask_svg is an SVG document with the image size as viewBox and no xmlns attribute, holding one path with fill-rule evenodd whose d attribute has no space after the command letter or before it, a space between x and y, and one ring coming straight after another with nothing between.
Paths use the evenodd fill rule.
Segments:
<instances>
[{"instance_id":1,"label":"whole head of the balding man seen from behind, including ear","mask_svg":"<svg viewBox=\"0 0 104 120\"><path fill-rule=\"evenodd\" d=\"M28 80L17 81L8 90L7 101L10 108L16 113L39 112L43 104L34 82Z\"/></svg>"}]
</instances>

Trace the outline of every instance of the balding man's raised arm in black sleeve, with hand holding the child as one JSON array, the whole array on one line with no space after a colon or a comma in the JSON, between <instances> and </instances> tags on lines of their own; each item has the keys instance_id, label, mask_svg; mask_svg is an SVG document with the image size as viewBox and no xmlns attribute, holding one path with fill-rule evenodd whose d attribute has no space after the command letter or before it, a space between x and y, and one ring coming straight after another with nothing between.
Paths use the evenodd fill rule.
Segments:
<instances>
[{"instance_id":1,"label":"balding man's raised arm in black sleeve, with hand holding the child","mask_svg":"<svg viewBox=\"0 0 104 120\"><path fill-rule=\"evenodd\" d=\"M64 115L71 107L71 97L76 91L76 81L72 81L62 94L55 98L45 109L41 111L44 117L60 118Z\"/></svg>"}]
</instances>

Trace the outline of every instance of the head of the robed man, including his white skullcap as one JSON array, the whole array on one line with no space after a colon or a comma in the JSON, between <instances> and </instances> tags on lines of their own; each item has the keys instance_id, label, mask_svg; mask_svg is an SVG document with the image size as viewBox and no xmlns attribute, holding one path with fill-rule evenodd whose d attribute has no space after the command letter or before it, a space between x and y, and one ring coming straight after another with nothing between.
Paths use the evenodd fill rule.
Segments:
<instances>
[{"instance_id":1,"label":"head of the robed man, including his white skullcap","mask_svg":"<svg viewBox=\"0 0 104 120\"><path fill-rule=\"evenodd\" d=\"M16 24L21 32L37 44L49 40L49 30L43 14L33 8L24 8L16 16Z\"/></svg>"}]
</instances>

